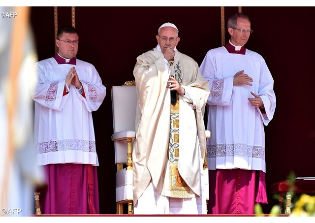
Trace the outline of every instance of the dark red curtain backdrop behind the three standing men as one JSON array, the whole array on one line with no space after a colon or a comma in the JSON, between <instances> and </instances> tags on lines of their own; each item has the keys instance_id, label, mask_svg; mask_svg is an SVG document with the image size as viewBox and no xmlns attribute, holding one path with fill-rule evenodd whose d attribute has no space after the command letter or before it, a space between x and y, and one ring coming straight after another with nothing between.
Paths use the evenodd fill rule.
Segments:
<instances>
[{"instance_id":1,"label":"dark red curtain backdrop behind the three standing men","mask_svg":"<svg viewBox=\"0 0 315 223\"><path fill-rule=\"evenodd\" d=\"M225 7L227 17L238 7ZM271 184L286 180L290 171L315 177L314 26L315 7L242 7L253 33L247 48L261 54L275 80L277 107L265 127L266 186L269 213L278 201ZM39 60L54 56L54 7L32 7L32 28ZM206 52L221 46L221 7L75 7L80 45L77 58L95 65L107 95L93 113L99 158L101 214L115 214L115 158L111 87L134 80L136 57L157 45L158 27L171 22L179 29L178 50L199 65ZM71 25L71 7L58 7L58 26ZM228 33L225 32L225 40Z\"/></svg>"}]
</instances>

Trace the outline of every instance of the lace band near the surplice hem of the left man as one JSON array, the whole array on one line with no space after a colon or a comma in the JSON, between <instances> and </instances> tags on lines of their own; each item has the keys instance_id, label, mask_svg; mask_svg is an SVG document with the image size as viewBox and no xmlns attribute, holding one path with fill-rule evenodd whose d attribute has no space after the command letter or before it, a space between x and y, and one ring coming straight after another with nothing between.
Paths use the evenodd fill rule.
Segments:
<instances>
[{"instance_id":1,"label":"lace band near the surplice hem of the left man","mask_svg":"<svg viewBox=\"0 0 315 223\"><path fill-rule=\"evenodd\" d=\"M64 139L37 144L37 153L39 154L68 150L96 153L96 146L94 141L81 139Z\"/></svg>"}]
</instances>

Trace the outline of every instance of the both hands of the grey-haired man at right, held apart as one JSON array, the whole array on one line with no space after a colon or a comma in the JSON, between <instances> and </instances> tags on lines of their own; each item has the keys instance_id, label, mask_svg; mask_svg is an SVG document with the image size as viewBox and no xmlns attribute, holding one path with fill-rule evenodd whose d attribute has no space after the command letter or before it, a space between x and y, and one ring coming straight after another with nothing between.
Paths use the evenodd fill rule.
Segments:
<instances>
[{"instance_id":1,"label":"both hands of the grey-haired man at right, held apart","mask_svg":"<svg viewBox=\"0 0 315 223\"><path fill-rule=\"evenodd\" d=\"M244 72L244 70L241 70L241 71L238 71L234 75L233 85L240 86L240 85L245 84L245 85L252 86L252 84L250 83L250 82L253 82L252 78L243 72ZM251 97L248 98L248 101L251 103L251 105L256 107L256 108L262 107L264 104L263 104L260 96L254 94L253 92L251 92L251 94L252 94L252 96L254 96L253 98L251 98Z\"/></svg>"}]
</instances>

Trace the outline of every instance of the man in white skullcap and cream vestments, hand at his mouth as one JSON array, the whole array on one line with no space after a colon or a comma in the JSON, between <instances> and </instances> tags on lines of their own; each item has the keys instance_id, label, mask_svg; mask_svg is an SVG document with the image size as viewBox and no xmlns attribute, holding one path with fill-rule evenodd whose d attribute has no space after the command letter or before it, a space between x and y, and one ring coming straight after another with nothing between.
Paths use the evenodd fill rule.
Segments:
<instances>
[{"instance_id":1,"label":"man in white skullcap and cream vestments, hand at his mouth","mask_svg":"<svg viewBox=\"0 0 315 223\"><path fill-rule=\"evenodd\" d=\"M159 33L161 36L178 34L175 25L164 25L167 28L163 31L169 32ZM198 214L191 206L185 208L183 199L196 202L201 195L206 149L203 114L209 86L193 59L175 47L174 60L168 61L162 53L163 43L168 40L158 42L156 48L137 58L133 71L138 96L132 153L134 213ZM184 95L177 93L174 105L168 88L171 75L180 83L179 89L185 89ZM169 203L180 199L178 209L172 210L168 199Z\"/></svg>"}]
</instances>

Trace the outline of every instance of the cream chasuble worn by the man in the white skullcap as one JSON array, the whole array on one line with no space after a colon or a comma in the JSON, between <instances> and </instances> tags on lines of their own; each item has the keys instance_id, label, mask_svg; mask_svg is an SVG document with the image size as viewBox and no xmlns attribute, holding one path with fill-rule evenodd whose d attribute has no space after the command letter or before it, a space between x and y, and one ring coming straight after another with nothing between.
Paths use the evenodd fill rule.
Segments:
<instances>
[{"instance_id":1,"label":"cream chasuble worn by the man in the white skullcap","mask_svg":"<svg viewBox=\"0 0 315 223\"><path fill-rule=\"evenodd\" d=\"M135 205L150 182L158 194L164 196L171 197L179 188L180 191L184 189L189 197L200 195L200 163L206 149L203 112L210 93L209 84L199 72L198 64L190 57L176 51L174 59L174 64L180 67L181 85L190 97L179 96L177 102L180 107L180 137L176 139L177 133L174 132L171 140L179 140L178 154L176 150L169 153L169 149L173 149L170 146L170 117L178 114L171 115L170 89L167 88L171 72L165 68L163 54L154 48L140 55L133 70L138 96L136 140L132 153ZM178 161L174 161L176 155ZM174 156L172 163L177 162L174 164L177 168L171 167L173 175L169 174L169 156ZM187 187L180 184L182 179ZM174 185L173 192L171 183ZM179 197L176 193L173 195Z\"/></svg>"}]
</instances>

